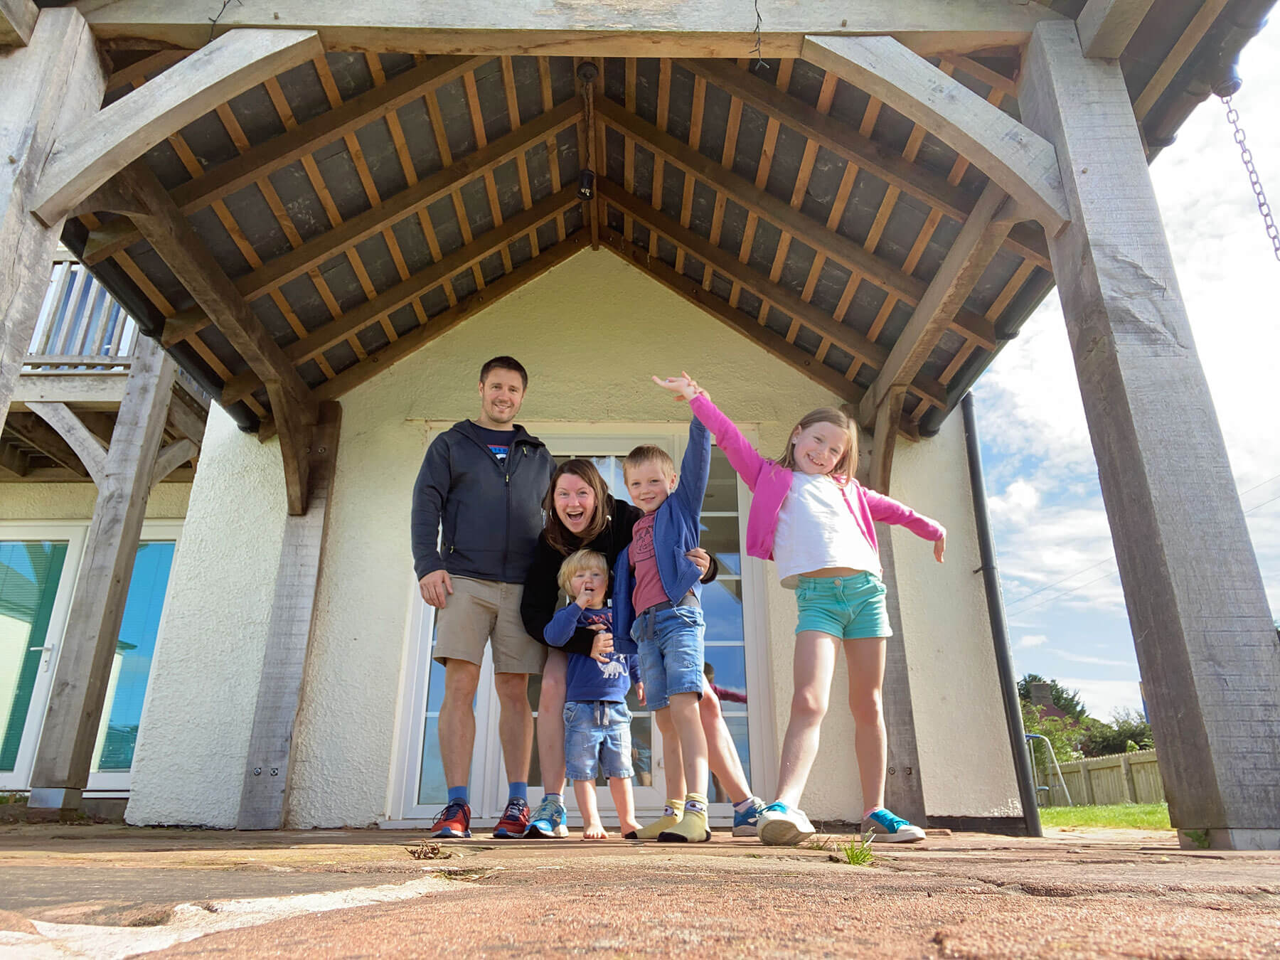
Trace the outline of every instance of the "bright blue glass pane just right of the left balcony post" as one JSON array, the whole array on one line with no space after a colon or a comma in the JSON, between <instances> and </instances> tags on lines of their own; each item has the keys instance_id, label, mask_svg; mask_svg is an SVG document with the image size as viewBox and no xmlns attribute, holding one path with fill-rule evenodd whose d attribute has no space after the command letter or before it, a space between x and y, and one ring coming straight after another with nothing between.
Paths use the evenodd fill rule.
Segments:
<instances>
[{"instance_id":1,"label":"bright blue glass pane just right of the left balcony post","mask_svg":"<svg viewBox=\"0 0 1280 960\"><path fill-rule=\"evenodd\" d=\"M124 602L120 635L106 687L106 709L97 731L96 771L127 771L133 765L142 701L151 675L151 657L160 631L160 614L169 588L173 543L140 543Z\"/></svg>"}]
</instances>

